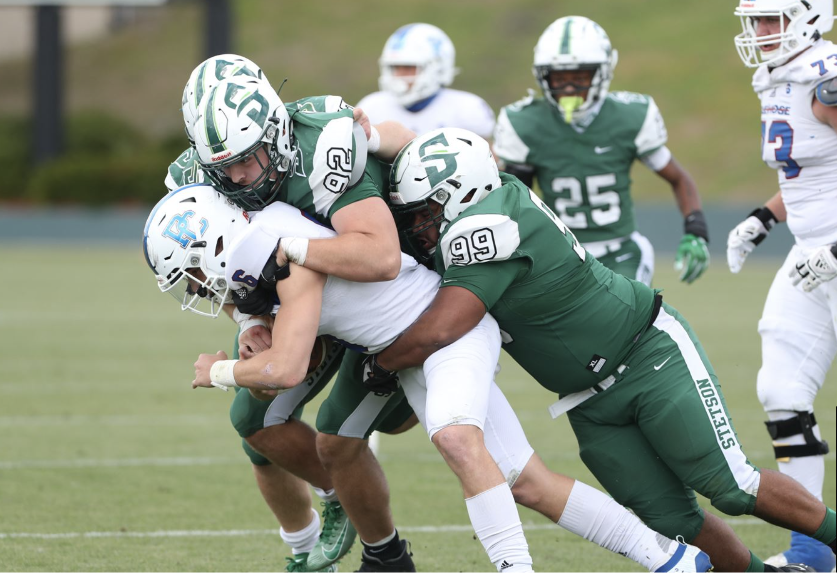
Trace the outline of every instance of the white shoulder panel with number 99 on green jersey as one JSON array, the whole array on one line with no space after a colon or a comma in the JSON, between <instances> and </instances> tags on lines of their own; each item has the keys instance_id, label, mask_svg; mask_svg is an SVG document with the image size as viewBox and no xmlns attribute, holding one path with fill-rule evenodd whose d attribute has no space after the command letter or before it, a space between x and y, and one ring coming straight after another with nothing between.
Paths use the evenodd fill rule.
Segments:
<instances>
[{"instance_id":1,"label":"white shoulder panel with number 99 on green jersey","mask_svg":"<svg viewBox=\"0 0 837 573\"><path fill-rule=\"evenodd\" d=\"M439 248L444 268L502 261L520 246L517 222L500 213L476 213L461 217L444 230Z\"/></svg>"}]
</instances>

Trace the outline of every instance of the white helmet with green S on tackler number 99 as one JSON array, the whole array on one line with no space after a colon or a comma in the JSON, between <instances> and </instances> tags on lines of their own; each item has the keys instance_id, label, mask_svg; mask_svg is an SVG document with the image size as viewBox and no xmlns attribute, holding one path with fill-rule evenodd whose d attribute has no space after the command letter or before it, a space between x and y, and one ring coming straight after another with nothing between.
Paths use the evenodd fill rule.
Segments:
<instances>
[{"instance_id":1,"label":"white helmet with green S on tackler number 99","mask_svg":"<svg viewBox=\"0 0 837 573\"><path fill-rule=\"evenodd\" d=\"M459 127L443 127L416 137L398 153L389 172L389 200L413 247L418 246L416 235L432 225L444 231L461 212L500 186L488 141ZM442 206L439 215L407 227L412 219L406 217L429 208L430 201Z\"/></svg>"}]
</instances>

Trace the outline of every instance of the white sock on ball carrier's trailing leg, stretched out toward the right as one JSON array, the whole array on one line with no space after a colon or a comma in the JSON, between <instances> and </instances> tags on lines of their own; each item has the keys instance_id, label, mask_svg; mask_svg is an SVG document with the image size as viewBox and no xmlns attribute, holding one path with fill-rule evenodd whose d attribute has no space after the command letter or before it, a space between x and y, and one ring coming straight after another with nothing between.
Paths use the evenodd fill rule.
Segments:
<instances>
[{"instance_id":1,"label":"white sock on ball carrier's trailing leg, stretched out toward the right","mask_svg":"<svg viewBox=\"0 0 837 573\"><path fill-rule=\"evenodd\" d=\"M614 553L657 570L677 550L677 542L650 530L608 495L576 480L558 525Z\"/></svg>"}]
</instances>

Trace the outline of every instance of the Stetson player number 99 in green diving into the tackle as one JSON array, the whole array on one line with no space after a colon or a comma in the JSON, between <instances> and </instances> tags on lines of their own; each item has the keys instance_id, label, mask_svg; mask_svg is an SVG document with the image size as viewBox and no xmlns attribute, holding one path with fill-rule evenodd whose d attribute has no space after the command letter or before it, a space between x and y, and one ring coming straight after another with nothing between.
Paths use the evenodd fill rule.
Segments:
<instances>
[{"instance_id":1,"label":"Stetson player number 99 in green diving into the tackle","mask_svg":"<svg viewBox=\"0 0 837 573\"><path fill-rule=\"evenodd\" d=\"M659 293L607 269L488 144L448 128L396 158L390 200L442 274L429 309L375 361L378 376L422 364L486 312L506 351L561 399L581 457L619 503L663 535L701 547L718 570L775 570L694 491L834 547L834 510L747 460L715 372L686 320ZM404 217L403 219L400 217ZM412 225L412 226L410 226Z\"/></svg>"}]
</instances>

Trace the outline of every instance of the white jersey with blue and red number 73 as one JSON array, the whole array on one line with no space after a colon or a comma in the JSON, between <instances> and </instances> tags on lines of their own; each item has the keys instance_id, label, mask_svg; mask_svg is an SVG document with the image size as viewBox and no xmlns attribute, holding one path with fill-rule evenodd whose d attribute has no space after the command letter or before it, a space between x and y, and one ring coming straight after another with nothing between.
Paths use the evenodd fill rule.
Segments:
<instances>
[{"instance_id":1,"label":"white jersey with blue and red number 73","mask_svg":"<svg viewBox=\"0 0 837 573\"><path fill-rule=\"evenodd\" d=\"M801 247L837 243L837 133L814 117L814 90L837 76L837 46L820 40L797 58L756 70L762 159L778 170L788 228Z\"/></svg>"}]
</instances>

